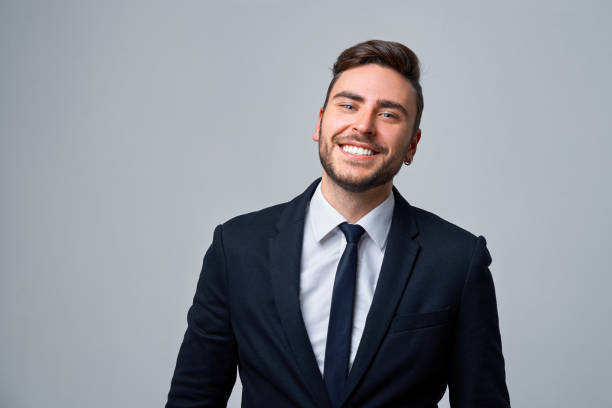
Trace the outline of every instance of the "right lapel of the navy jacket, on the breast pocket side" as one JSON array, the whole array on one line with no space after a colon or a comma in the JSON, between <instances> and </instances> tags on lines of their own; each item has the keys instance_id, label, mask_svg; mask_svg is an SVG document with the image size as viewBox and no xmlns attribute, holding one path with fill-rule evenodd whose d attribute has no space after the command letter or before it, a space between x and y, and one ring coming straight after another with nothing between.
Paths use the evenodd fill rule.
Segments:
<instances>
[{"instance_id":1,"label":"right lapel of the navy jacket, on the breast pocket side","mask_svg":"<svg viewBox=\"0 0 612 408\"><path fill-rule=\"evenodd\" d=\"M347 379L343 400L354 391L376 355L419 252L419 244L413 240L418 230L411 217L410 205L395 187L393 194L395 208L387 248L361 342Z\"/></svg>"}]
</instances>

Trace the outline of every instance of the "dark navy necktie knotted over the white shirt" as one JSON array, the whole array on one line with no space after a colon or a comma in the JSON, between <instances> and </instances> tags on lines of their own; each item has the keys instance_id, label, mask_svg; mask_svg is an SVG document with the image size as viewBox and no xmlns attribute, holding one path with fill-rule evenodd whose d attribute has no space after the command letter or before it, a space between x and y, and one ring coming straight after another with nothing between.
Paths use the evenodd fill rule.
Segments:
<instances>
[{"instance_id":1,"label":"dark navy necktie knotted over the white shirt","mask_svg":"<svg viewBox=\"0 0 612 408\"><path fill-rule=\"evenodd\" d=\"M332 294L323 377L332 405L340 405L340 397L348 377L353 328L353 303L357 279L357 245L365 230L346 222L338 226L346 237L346 248L340 258Z\"/></svg>"}]
</instances>

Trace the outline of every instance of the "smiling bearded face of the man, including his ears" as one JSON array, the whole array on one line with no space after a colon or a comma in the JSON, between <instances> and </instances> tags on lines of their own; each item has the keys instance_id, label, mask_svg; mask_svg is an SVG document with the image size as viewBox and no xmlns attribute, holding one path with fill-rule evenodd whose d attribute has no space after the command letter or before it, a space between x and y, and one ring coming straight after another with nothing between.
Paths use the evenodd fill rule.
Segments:
<instances>
[{"instance_id":1,"label":"smiling bearded face of the man, including his ears","mask_svg":"<svg viewBox=\"0 0 612 408\"><path fill-rule=\"evenodd\" d=\"M416 113L416 93L398 72L376 64L344 71L313 135L326 175L355 192L392 183L416 151Z\"/></svg>"}]
</instances>

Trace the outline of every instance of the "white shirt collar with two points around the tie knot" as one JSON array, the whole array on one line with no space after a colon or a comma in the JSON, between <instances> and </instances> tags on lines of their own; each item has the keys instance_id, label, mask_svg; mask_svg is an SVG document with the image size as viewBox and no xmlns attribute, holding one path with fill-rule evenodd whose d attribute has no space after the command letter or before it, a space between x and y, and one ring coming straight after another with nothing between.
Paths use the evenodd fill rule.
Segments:
<instances>
[{"instance_id":1,"label":"white shirt collar with two points around the tie knot","mask_svg":"<svg viewBox=\"0 0 612 408\"><path fill-rule=\"evenodd\" d=\"M357 224L365 229L368 236L372 238L381 250L387 243L394 207L395 198L393 197L393 193L390 193L385 201L357 221ZM323 196L321 183L319 183L312 195L309 212L314 238L317 242L325 238L339 224L346 222L342 214L332 207Z\"/></svg>"}]
</instances>

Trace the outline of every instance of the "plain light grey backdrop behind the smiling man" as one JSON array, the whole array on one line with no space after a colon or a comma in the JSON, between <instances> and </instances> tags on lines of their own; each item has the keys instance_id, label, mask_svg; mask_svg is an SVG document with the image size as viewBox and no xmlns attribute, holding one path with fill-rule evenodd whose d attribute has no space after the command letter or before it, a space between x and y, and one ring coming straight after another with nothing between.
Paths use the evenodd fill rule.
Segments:
<instances>
[{"instance_id":1,"label":"plain light grey backdrop behind the smiling man","mask_svg":"<svg viewBox=\"0 0 612 408\"><path fill-rule=\"evenodd\" d=\"M371 38L422 60L396 185L487 237L513 406L610 406L611 12L2 1L0 406L163 405L214 226L320 174L329 68Z\"/></svg>"}]
</instances>

